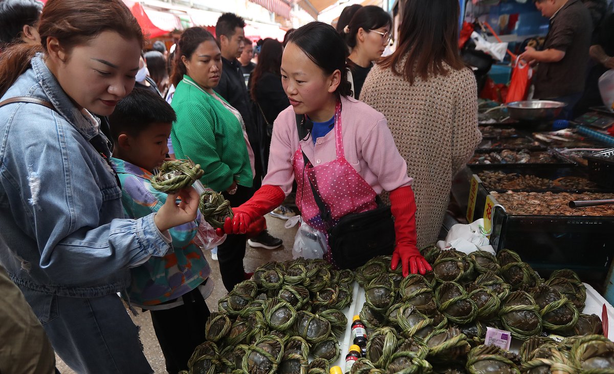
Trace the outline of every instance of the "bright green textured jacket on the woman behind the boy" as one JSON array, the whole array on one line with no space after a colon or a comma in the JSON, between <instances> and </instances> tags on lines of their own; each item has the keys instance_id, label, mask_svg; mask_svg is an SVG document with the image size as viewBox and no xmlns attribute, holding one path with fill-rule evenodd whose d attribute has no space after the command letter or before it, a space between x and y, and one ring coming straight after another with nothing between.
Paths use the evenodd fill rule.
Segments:
<instances>
[{"instance_id":1,"label":"bright green textured jacket on the woman behind the boy","mask_svg":"<svg viewBox=\"0 0 614 374\"><path fill-rule=\"evenodd\" d=\"M254 176L235 115L187 75L177 85L171 106L177 113L171 129L175 157L200 164L201 182L215 191L230 188L235 175L239 185L251 187Z\"/></svg>"}]
</instances>

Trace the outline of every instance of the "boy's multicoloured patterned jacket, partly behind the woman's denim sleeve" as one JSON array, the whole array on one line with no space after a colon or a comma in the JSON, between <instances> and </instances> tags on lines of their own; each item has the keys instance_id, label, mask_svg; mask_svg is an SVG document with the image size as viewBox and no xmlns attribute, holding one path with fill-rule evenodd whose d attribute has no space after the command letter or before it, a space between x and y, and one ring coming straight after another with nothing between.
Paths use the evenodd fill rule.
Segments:
<instances>
[{"instance_id":1,"label":"boy's multicoloured patterned jacket, partly behind the woman's denim sleeve","mask_svg":"<svg viewBox=\"0 0 614 374\"><path fill-rule=\"evenodd\" d=\"M122 182L122 203L126 216L147 216L164 205L168 195L152 187L151 172L122 159L111 158L111 161ZM207 280L211 267L203 251L194 243L197 231L197 221L169 229L173 238L173 253L162 258L152 257L131 269L128 299L134 305L147 309L151 305L176 299ZM207 282L206 286L201 291L205 298L211 294L213 282Z\"/></svg>"}]
</instances>

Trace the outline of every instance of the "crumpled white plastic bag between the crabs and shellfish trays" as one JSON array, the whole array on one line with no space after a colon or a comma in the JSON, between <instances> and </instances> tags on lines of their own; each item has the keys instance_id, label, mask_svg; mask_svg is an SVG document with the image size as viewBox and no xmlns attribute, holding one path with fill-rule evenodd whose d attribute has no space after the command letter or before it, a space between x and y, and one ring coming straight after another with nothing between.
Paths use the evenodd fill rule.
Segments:
<instances>
[{"instance_id":1,"label":"crumpled white plastic bag between the crabs and shellfish trays","mask_svg":"<svg viewBox=\"0 0 614 374\"><path fill-rule=\"evenodd\" d=\"M440 240L437 246L442 250L455 248L466 254L478 250L495 254L489 245L488 234L484 232L484 219L480 218L470 224L455 224L446 235L446 240Z\"/></svg>"}]
</instances>

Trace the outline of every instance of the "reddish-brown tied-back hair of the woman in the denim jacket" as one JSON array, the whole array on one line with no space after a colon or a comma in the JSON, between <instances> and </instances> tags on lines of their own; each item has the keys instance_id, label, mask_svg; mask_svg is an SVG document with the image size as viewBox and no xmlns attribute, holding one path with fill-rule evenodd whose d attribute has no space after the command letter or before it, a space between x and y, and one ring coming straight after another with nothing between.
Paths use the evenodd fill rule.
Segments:
<instances>
[{"instance_id":1,"label":"reddish-brown tied-back hair of the woman in the denim jacket","mask_svg":"<svg viewBox=\"0 0 614 374\"><path fill-rule=\"evenodd\" d=\"M145 37L138 21L122 0L49 0L38 27L41 45L14 45L0 55L0 96L30 67L37 52L47 52L47 39L55 37L66 52L103 31L115 31L125 39Z\"/></svg>"}]
</instances>

